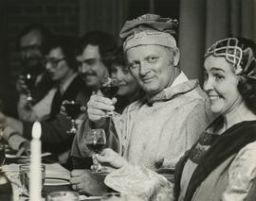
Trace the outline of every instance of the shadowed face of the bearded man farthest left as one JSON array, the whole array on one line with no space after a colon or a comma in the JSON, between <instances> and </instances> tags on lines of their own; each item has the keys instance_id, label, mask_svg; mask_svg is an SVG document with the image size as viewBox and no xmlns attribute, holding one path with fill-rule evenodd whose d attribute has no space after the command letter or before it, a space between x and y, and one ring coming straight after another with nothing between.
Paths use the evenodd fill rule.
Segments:
<instances>
[{"instance_id":1,"label":"shadowed face of the bearded man farthest left","mask_svg":"<svg viewBox=\"0 0 256 201\"><path fill-rule=\"evenodd\" d=\"M24 67L32 71L42 71L42 36L38 30L32 30L20 40L20 57ZM41 68L41 69L38 69Z\"/></svg>"}]
</instances>

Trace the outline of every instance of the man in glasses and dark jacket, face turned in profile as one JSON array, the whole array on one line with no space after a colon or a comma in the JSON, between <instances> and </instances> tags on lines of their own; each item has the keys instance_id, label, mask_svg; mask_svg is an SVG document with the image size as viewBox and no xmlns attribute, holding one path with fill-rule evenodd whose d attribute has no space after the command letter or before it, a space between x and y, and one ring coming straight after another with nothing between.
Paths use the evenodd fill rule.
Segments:
<instances>
[{"instance_id":1,"label":"man in glasses and dark jacket, face turned in profile","mask_svg":"<svg viewBox=\"0 0 256 201\"><path fill-rule=\"evenodd\" d=\"M44 121L40 121L42 126L43 150L56 153L59 156L67 152L71 147L74 134L66 133L70 129L70 120L65 115L60 114L61 105L64 100L78 101L85 105L90 93L87 92L81 76L77 73L76 59L76 39L67 36L52 36L46 45L45 66L48 75L54 81L54 87L46 94L51 96L51 103L48 104L48 115ZM44 98L41 102L44 102ZM31 139L33 122L20 121L1 113L1 126L6 128L5 139L13 142L12 148L19 149L22 142ZM13 135L14 133L17 135ZM8 135L8 133L10 135ZM10 140L9 138L12 138ZM21 140L23 139L23 140ZM59 158L60 159L60 158ZM67 159L67 157L65 157ZM66 161L64 161L65 163Z\"/></svg>"}]
</instances>

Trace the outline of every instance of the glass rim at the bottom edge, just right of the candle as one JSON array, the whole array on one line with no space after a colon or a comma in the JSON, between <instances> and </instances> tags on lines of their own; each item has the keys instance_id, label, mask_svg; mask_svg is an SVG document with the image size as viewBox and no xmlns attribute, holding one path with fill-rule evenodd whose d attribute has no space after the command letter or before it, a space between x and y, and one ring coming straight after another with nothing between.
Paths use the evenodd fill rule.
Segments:
<instances>
[{"instance_id":1,"label":"glass rim at the bottom edge, just right of the candle","mask_svg":"<svg viewBox=\"0 0 256 201\"><path fill-rule=\"evenodd\" d=\"M46 196L46 201L79 201L79 193L76 192L51 192Z\"/></svg>"}]
</instances>

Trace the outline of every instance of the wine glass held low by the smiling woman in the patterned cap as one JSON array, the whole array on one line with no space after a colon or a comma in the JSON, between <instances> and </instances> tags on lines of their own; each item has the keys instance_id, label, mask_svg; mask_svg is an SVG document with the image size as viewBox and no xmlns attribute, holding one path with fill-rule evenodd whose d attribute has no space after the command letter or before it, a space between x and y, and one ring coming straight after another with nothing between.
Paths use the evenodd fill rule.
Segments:
<instances>
[{"instance_id":1,"label":"wine glass held low by the smiling woman in the patterned cap","mask_svg":"<svg viewBox=\"0 0 256 201\"><path fill-rule=\"evenodd\" d=\"M95 154L100 154L106 145L106 134L101 128L84 130L84 140L88 149ZM95 171L96 173L98 171Z\"/></svg>"}]
</instances>

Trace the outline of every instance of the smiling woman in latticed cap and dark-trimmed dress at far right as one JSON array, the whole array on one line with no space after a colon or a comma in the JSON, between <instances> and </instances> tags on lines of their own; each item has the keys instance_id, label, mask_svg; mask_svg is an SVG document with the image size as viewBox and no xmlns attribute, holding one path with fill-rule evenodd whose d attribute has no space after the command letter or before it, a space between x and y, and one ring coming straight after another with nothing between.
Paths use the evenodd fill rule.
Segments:
<instances>
[{"instance_id":1,"label":"smiling woman in latticed cap and dark-trimmed dress at far right","mask_svg":"<svg viewBox=\"0 0 256 201\"><path fill-rule=\"evenodd\" d=\"M219 117L177 165L178 200L247 198L256 177L255 54L244 38L220 40L206 53L204 90Z\"/></svg>"}]
</instances>

